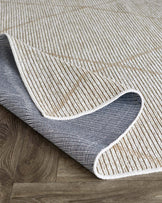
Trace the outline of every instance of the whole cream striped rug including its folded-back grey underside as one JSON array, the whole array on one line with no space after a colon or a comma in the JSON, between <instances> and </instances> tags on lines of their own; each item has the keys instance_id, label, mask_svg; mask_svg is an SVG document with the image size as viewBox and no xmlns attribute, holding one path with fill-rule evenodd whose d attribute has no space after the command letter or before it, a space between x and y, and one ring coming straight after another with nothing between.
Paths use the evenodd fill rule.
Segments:
<instances>
[{"instance_id":1,"label":"whole cream striped rug including its folded-back grey underside","mask_svg":"<svg viewBox=\"0 0 162 203\"><path fill-rule=\"evenodd\" d=\"M0 0L0 104L102 179L162 171L162 2Z\"/></svg>"}]
</instances>

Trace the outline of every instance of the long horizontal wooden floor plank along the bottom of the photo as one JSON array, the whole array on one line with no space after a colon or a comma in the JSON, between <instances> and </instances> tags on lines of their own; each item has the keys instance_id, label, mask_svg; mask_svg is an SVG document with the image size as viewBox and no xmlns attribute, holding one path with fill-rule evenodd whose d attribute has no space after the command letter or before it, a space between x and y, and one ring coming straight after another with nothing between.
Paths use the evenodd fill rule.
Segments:
<instances>
[{"instance_id":1,"label":"long horizontal wooden floor plank along the bottom of the photo","mask_svg":"<svg viewBox=\"0 0 162 203\"><path fill-rule=\"evenodd\" d=\"M14 184L11 203L161 203L161 181Z\"/></svg>"}]
</instances>

